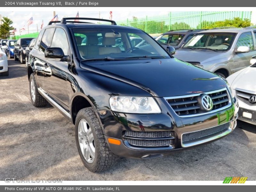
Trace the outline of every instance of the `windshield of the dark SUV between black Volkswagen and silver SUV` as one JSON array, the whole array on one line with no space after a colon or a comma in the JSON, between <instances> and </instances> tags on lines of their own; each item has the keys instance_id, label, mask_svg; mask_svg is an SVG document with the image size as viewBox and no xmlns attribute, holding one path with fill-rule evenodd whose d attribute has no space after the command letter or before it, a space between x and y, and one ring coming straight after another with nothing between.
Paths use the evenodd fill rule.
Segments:
<instances>
[{"instance_id":1,"label":"windshield of the dark SUV between black Volkswagen and silver SUV","mask_svg":"<svg viewBox=\"0 0 256 192\"><path fill-rule=\"evenodd\" d=\"M172 46L176 46L180 43L184 34L170 34L170 35L160 35L156 37L156 41L160 44L168 44Z\"/></svg>"}]
</instances>

